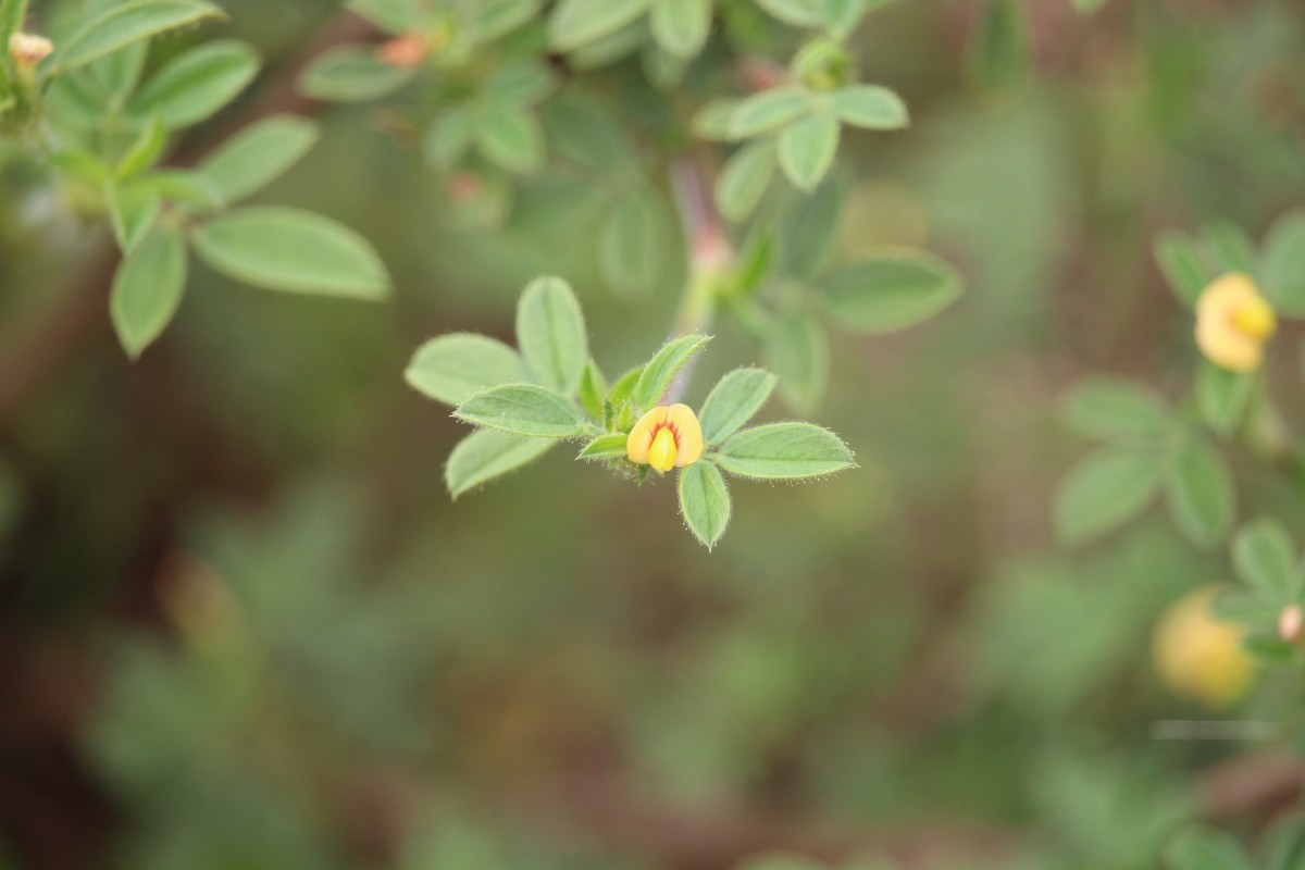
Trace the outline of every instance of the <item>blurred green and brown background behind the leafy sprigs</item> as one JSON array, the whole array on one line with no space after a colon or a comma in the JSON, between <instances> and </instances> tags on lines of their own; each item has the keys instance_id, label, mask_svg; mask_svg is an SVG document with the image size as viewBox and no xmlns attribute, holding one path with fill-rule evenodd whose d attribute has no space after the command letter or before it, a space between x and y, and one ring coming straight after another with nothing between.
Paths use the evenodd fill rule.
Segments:
<instances>
[{"instance_id":1,"label":"blurred green and brown background behind the leafy sprigs","mask_svg":"<svg viewBox=\"0 0 1305 870\"><path fill-rule=\"evenodd\" d=\"M335 14L223 5L270 77ZM1261 788L1298 770L1285 750L1154 729L1211 715L1167 695L1148 644L1228 565L1159 511L1066 552L1048 505L1083 447L1056 420L1067 383L1177 395L1195 360L1158 230L1258 236L1305 196L1305 8L997 7L902 1L855 35L914 124L848 134L829 239L928 247L967 293L928 326L834 338L816 419L861 467L741 484L711 556L671 487L565 451L450 503L465 429L401 378L436 333L510 340L544 271L606 368L645 359L683 256L645 292L609 287L581 240L611 187L548 168L468 202L392 107L318 107L321 143L257 198L361 231L393 300L198 267L133 365L68 280L102 239L7 163L0 387L40 376L0 389L0 867L1142 870L1188 819L1253 840L1295 796ZM590 80L617 136L658 124L641 80L638 59ZM690 403L766 363L716 331ZM1287 715L1298 689L1262 682L1227 715Z\"/></svg>"}]
</instances>

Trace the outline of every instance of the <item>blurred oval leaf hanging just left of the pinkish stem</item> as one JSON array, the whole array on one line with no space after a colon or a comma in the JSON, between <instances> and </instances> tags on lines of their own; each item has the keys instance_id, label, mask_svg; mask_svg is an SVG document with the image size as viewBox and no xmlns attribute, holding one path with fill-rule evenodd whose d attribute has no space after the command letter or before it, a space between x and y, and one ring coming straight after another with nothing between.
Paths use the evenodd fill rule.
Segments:
<instances>
[{"instance_id":1,"label":"blurred oval leaf hanging just left of the pinkish stem","mask_svg":"<svg viewBox=\"0 0 1305 870\"><path fill-rule=\"evenodd\" d=\"M662 197L649 187L616 200L599 231L598 263L617 295L645 296L662 284L671 256L669 224Z\"/></svg>"}]
</instances>

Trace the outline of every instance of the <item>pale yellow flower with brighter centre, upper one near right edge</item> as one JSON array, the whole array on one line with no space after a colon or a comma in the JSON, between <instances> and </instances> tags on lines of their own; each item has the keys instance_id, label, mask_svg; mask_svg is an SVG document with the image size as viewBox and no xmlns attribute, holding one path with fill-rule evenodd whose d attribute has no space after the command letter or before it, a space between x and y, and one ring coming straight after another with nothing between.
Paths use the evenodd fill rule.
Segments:
<instances>
[{"instance_id":1,"label":"pale yellow flower with brighter centre, upper one near right edge","mask_svg":"<svg viewBox=\"0 0 1305 870\"><path fill-rule=\"evenodd\" d=\"M1197 300L1197 347L1232 372L1253 372L1265 359L1265 342L1278 316L1248 275L1228 273L1210 282Z\"/></svg>"}]
</instances>

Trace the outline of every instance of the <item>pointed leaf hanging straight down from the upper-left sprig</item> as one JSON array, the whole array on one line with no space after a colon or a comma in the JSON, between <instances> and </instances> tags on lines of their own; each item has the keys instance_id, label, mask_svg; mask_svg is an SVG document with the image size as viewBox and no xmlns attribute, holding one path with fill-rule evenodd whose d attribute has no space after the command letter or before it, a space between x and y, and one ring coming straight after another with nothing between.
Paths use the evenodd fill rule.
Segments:
<instances>
[{"instance_id":1,"label":"pointed leaf hanging straight down from the upper-left sprig","mask_svg":"<svg viewBox=\"0 0 1305 870\"><path fill-rule=\"evenodd\" d=\"M123 260L108 312L117 340L133 360L176 314L184 290L185 240L175 230L155 230Z\"/></svg>"}]
</instances>

